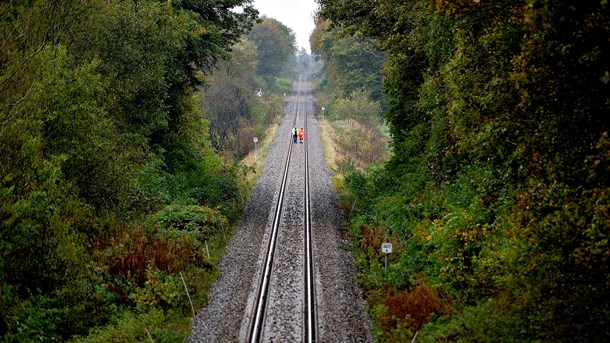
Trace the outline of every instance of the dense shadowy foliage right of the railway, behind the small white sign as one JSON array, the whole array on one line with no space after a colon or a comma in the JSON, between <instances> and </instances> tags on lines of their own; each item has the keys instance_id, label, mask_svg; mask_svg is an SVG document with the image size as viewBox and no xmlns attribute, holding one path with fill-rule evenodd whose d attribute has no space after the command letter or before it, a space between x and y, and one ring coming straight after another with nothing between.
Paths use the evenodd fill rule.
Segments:
<instances>
[{"instance_id":1,"label":"dense shadowy foliage right of the railway, behind the small white sign","mask_svg":"<svg viewBox=\"0 0 610 343\"><path fill-rule=\"evenodd\" d=\"M377 338L607 341L607 1L319 2L388 52L392 158L346 180Z\"/></svg>"}]
</instances>

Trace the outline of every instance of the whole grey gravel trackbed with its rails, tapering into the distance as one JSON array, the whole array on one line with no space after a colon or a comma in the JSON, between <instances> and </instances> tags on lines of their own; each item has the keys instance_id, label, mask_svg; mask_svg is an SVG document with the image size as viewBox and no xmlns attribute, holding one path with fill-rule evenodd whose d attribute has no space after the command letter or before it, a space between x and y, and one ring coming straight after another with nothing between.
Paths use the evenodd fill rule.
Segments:
<instances>
[{"instance_id":1,"label":"whole grey gravel trackbed with its rails, tapering into the distance","mask_svg":"<svg viewBox=\"0 0 610 343\"><path fill-rule=\"evenodd\" d=\"M312 77L285 99L280 129L189 342L372 342L314 116ZM303 127L303 144L289 141ZM315 252L315 253L314 253Z\"/></svg>"}]
</instances>

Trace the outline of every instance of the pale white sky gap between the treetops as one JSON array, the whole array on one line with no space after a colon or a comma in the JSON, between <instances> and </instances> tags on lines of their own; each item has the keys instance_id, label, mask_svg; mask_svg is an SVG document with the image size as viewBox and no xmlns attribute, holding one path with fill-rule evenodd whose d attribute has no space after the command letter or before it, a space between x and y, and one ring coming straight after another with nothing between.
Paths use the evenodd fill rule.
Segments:
<instances>
[{"instance_id":1,"label":"pale white sky gap between the treetops","mask_svg":"<svg viewBox=\"0 0 610 343\"><path fill-rule=\"evenodd\" d=\"M261 16L273 18L294 31L297 49L308 52L309 35L314 29L313 14L318 8L315 0L254 0L254 7Z\"/></svg>"}]
</instances>

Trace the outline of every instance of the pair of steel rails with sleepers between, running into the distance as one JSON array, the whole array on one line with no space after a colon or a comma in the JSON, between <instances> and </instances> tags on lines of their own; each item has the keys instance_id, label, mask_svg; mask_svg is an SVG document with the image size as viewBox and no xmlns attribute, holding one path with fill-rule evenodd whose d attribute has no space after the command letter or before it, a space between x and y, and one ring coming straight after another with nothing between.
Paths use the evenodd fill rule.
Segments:
<instances>
[{"instance_id":1,"label":"pair of steel rails with sleepers between, running into the distance","mask_svg":"<svg viewBox=\"0 0 610 343\"><path fill-rule=\"evenodd\" d=\"M310 83L308 76L300 75L295 80L296 94L291 96L290 105L292 105L293 116L293 127L303 127L307 132L307 118L313 112L313 98L310 91ZM303 90L302 88L305 88ZM286 110L288 111L288 106ZM299 125L302 124L302 125ZM288 135L287 135L288 136ZM273 341L273 340L285 340L287 337L283 336L284 333L281 329L277 329L278 321L286 320L300 321L284 323L284 327L292 328L294 331L300 331L301 342L315 342L317 341L318 333L318 320L316 312L316 277L315 277L315 266L314 266L314 252L313 252L313 235L311 227L311 214L310 214L310 194L309 194L309 154L308 154L308 140L305 138L302 144L292 143L287 140L286 150L286 161L284 163L284 171L282 174L281 183L279 185L279 192L276 200L275 211L273 214L273 221L270 227L270 233L266 241L266 248L264 251L264 258L262 262L262 269L258 278L258 284L256 285L255 297L251 307L246 310L245 316L249 319L246 320L248 324L247 329L247 341L251 343ZM297 175L298 172L302 172L302 176L295 177L298 180L295 186L295 180L291 180L291 177ZM301 183L302 182L302 183ZM298 185L298 183L301 183ZM302 187L301 201L296 201L295 196L291 195L289 190L289 184L292 188ZM294 193L294 192L292 192ZM298 199L298 196L297 196ZM295 207L287 205L287 203L299 203L299 208L295 210ZM301 229L294 229L297 225L291 225L290 221L285 219L291 217L292 213L285 213L286 211L292 211L298 214L299 220L296 222L302 223ZM284 218L284 219L283 219ZM290 231L292 227L292 232ZM301 231L302 230L302 231ZM300 232L299 232L300 231ZM284 261L280 263L278 260L281 259L280 255L289 255L289 253L283 253L281 249L290 249L289 246L278 244L284 236L290 235L292 238L296 236L302 237L302 246L298 249L300 256L295 258L292 254L292 258L284 258ZM294 252L293 252L294 253ZM281 287L282 282L275 281L280 279L278 270L282 268L288 268L290 270L302 270L300 282L285 282L288 287ZM299 290L296 288L302 288L300 290L300 301L298 295L287 296L289 301L287 304L270 305L270 303L281 302L283 298L281 295L295 294ZM277 300L280 299L280 300ZM294 305L301 309L294 309ZM273 307L273 309L271 309ZM286 312L282 313L277 308L287 309ZM274 312L270 314L270 312ZM299 314L295 314L299 313ZM300 317L300 319L298 319ZM288 319L285 319L288 318ZM296 330L294 328L299 328ZM278 337L279 336L279 337ZM295 339L297 337L292 337ZM292 340L291 339L291 340Z\"/></svg>"}]
</instances>

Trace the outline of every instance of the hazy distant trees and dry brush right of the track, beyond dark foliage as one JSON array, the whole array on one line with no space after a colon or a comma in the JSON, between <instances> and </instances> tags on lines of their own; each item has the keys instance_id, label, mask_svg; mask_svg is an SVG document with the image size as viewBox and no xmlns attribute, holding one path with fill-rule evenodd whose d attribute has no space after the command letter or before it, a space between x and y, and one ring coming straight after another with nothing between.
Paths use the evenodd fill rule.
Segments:
<instances>
[{"instance_id":1,"label":"hazy distant trees and dry brush right of the track, beyond dark foliage","mask_svg":"<svg viewBox=\"0 0 610 343\"><path fill-rule=\"evenodd\" d=\"M314 91L320 122L332 141L333 169L364 169L385 161L388 137L383 111L387 98L382 75L387 54L374 40L346 35L320 16L309 38L315 64ZM327 147L326 151L329 151Z\"/></svg>"}]
</instances>

